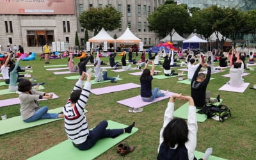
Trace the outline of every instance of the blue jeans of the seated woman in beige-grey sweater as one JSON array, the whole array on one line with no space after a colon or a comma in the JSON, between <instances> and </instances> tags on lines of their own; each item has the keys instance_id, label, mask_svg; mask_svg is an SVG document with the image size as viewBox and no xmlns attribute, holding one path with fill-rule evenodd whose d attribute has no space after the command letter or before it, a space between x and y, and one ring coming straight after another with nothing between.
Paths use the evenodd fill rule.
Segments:
<instances>
[{"instance_id":1,"label":"blue jeans of the seated woman in beige-grey sweater","mask_svg":"<svg viewBox=\"0 0 256 160\"><path fill-rule=\"evenodd\" d=\"M47 113L48 107L44 106L42 108L39 108L35 111L34 115L29 117L26 120L23 120L24 122L34 122L39 119L56 119L58 118L58 113Z\"/></svg>"}]
</instances>

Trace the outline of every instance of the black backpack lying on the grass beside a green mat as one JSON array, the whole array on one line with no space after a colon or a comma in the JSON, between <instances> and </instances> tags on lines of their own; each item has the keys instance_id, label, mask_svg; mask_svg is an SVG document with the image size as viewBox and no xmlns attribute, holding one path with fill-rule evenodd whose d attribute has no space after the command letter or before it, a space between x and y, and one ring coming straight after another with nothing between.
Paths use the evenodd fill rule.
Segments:
<instances>
[{"instance_id":1,"label":"black backpack lying on the grass beside a green mat","mask_svg":"<svg viewBox=\"0 0 256 160\"><path fill-rule=\"evenodd\" d=\"M205 107L197 111L197 113L205 114L207 115L207 118L212 118L220 122L224 122L228 115L231 116L230 109L224 104L220 104L219 106L206 104Z\"/></svg>"}]
</instances>

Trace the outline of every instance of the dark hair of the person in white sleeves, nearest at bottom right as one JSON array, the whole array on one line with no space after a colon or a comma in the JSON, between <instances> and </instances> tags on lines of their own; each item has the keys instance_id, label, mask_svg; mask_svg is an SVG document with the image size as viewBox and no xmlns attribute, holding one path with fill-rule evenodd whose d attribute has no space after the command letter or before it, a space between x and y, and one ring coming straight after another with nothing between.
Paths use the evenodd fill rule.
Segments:
<instances>
[{"instance_id":1,"label":"dark hair of the person in white sleeves, nearest at bottom right","mask_svg":"<svg viewBox=\"0 0 256 160\"><path fill-rule=\"evenodd\" d=\"M188 141L188 125L182 118L173 118L163 131L164 143L168 147L184 145Z\"/></svg>"}]
</instances>

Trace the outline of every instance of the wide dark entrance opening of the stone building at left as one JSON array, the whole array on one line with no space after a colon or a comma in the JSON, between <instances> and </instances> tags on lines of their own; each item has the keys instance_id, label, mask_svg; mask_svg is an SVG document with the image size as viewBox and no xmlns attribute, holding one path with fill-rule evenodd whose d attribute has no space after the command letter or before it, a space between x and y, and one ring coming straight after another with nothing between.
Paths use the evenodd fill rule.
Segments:
<instances>
[{"instance_id":1,"label":"wide dark entrance opening of the stone building at left","mask_svg":"<svg viewBox=\"0 0 256 160\"><path fill-rule=\"evenodd\" d=\"M38 47L41 44L54 42L54 31L27 31L28 47Z\"/></svg>"}]
</instances>

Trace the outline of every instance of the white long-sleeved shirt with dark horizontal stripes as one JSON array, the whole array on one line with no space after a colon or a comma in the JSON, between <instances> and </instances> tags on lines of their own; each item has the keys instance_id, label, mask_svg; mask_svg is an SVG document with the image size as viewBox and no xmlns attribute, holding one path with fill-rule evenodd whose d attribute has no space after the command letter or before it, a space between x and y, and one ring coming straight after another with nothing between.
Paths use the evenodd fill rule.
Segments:
<instances>
[{"instance_id":1,"label":"white long-sleeved shirt with dark horizontal stripes","mask_svg":"<svg viewBox=\"0 0 256 160\"><path fill-rule=\"evenodd\" d=\"M68 99L67 104L63 108L63 113L65 115L65 131L68 139L75 144L83 143L89 135L88 124L86 116L84 115L84 108L90 95L91 86L92 83L86 81L76 105L70 107L71 100ZM72 92L74 90L81 90L82 87L83 81L79 79Z\"/></svg>"}]
</instances>

